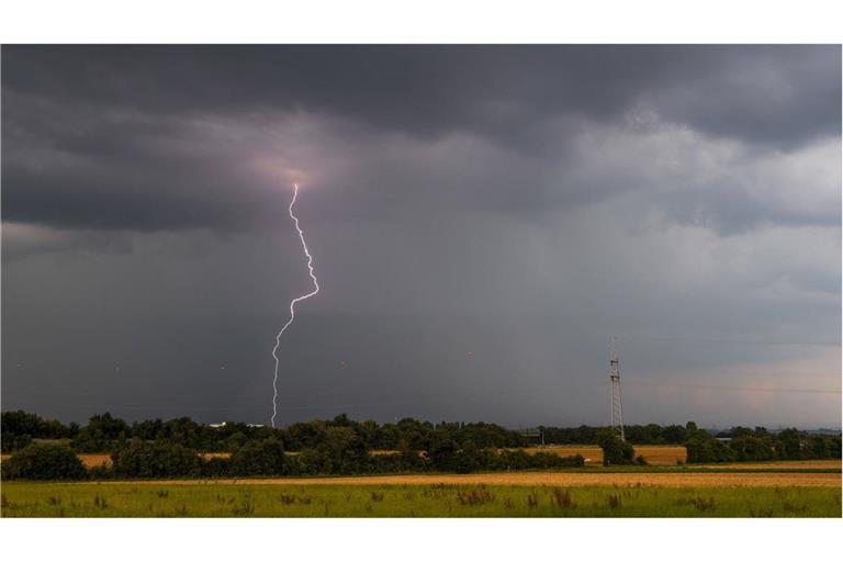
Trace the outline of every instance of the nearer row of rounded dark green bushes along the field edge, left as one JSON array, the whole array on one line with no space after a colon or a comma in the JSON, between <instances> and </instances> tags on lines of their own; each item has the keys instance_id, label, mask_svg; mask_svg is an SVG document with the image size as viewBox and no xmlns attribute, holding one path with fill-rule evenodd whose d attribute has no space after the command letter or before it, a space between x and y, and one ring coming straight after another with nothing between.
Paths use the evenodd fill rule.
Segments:
<instances>
[{"instance_id":1,"label":"nearer row of rounded dark green bushes along the field edge, left","mask_svg":"<svg viewBox=\"0 0 843 562\"><path fill-rule=\"evenodd\" d=\"M3 461L8 480L306 476L420 472L549 470L583 467L580 454L560 457L522 449L481 449L436 440L428 450L373 453L348 427L331 427L316 447L290 453L274 437L246 441L231 456L203 456L165 440L132 439L111 452L111 464L86 469L67 443L32 442Z\"/></svg>"}]
</instances>

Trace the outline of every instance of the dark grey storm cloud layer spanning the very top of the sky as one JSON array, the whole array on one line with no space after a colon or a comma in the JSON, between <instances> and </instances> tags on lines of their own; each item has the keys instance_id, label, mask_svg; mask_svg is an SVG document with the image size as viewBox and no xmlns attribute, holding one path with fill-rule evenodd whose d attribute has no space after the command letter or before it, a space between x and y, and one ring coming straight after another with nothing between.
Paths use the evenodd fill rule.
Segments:
<instances>
[{"instance_id":1,"label":"dark grey storm cloud layer spanning the very top of the sky","mask_svg":"<svg viewBox=\"0 0 843 562\"><path fill-rule=\"evenodd\" d=\"M671 119L723 134L787 143L840 130L834 46L7 47L3 63L4 88L68 102L302 109L422 135L610 120L676 94Z\"/></svg>"}]
</instances>

